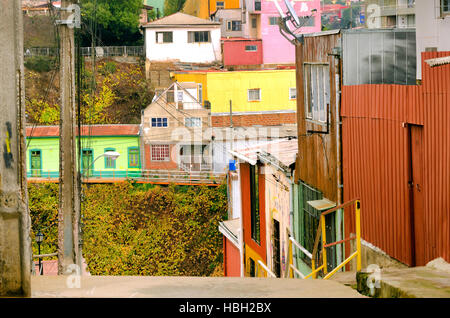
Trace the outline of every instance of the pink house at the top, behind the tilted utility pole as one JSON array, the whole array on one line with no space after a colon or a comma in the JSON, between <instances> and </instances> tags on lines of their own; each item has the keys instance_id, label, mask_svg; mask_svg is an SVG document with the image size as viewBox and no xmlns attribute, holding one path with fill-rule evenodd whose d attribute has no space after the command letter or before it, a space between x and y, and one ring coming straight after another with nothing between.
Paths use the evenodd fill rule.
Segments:
<instances>
[{"instance_id":1,"label":"pink house at the top, behind the tilted utility pole","mask_svg":"<svg viewBox=\"0 0 450 318\"><path fill-rule=\"evenodd\" d=\"M284 1L278 1L281 9L287 12ZM321 30L320 0L292 0L293 7L300 17L313 17L301 28L301 33L314 33ZM279 13L274 0L246 0L248 35L262 39L263 64L295 63L295 46L289 43L278 28Z\"/></svg>"}]
</instances>

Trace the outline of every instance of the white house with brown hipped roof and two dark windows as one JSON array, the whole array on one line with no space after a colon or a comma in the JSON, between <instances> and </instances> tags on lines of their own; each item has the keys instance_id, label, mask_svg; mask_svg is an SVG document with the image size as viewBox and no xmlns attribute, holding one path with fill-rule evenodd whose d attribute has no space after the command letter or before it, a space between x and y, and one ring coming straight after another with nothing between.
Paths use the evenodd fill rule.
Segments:
<instances>
[{"instance_id":1,"label":"white house with brown hipped roof and two dark windows","mask_svg":"<svg viewBox=\"0 0 450 318\"><path fill-rule=\"evenodd\" d=\"M222 60L220 23L177 12L143 25L150 62L213 63Z\"/></svg>"}]
</instances>

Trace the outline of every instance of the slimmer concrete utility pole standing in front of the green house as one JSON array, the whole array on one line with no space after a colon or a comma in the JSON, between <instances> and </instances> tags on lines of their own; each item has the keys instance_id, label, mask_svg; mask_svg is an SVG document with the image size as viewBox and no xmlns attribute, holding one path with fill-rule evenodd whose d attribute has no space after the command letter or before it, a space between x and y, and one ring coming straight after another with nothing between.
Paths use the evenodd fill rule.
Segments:
<instances>
[{"instance_id":1,"label":"slimmer concrete utility pole standing in front of the green house","mask_svg":"<svg viewBox=\"0 0 450 318\"><path fill-rule=\"evenodd\" d=\"M73 264L81 273L79 253L79 191L75 139L75 37L74 14L67 9L75 1L61 1L60 34L60 143L59 143L59 222L58 274L72 274Z\"/></svg>"}]
</instances>

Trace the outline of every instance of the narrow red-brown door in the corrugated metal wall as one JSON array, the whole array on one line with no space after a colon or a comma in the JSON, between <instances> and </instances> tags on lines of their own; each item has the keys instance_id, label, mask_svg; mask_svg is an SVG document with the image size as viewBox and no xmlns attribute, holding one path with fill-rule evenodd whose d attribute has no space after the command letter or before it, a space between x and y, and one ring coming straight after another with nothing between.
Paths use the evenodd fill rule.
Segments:
<instances>
[{"instance_id":1,"label":"narrow red-brown door in the corrugated metal wall","mask_svg":"<svg viewBox=\"0 0 450 318\"><path fill-rule=\"evenodd\" d=\"M415 266L425 265L425 231L424 231L424 164L423 164L423 127L410 126L411 133L411 180L409 182L412 222L412 261Z\"/></svg>"}]
</instances>

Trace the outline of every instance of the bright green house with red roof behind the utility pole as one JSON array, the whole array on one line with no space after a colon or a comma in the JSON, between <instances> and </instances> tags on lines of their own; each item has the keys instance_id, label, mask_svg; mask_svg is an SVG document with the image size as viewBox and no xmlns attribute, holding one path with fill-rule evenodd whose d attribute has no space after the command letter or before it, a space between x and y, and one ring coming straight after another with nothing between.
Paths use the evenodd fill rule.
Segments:
<instances>
[{"instance_id":1,"label":"bright green house with red roof behind the utility pole","mask_svg":"<svg viewBox=\"0 0 450 318\"><path fill-rule=\"evenodd\" d=\"M133 178L141 176L139 125L93 125L81 130L81 172L93 178ZM27 128L27 176L59 176L59 127ZM77 137L77 150L78 137ZM105 152L119 153L117 159Z\"/></svg>"}]
</instances>

